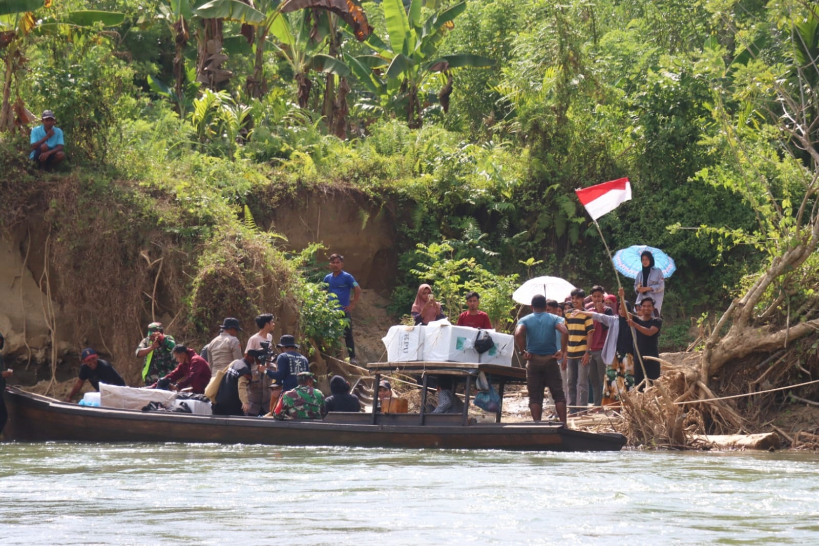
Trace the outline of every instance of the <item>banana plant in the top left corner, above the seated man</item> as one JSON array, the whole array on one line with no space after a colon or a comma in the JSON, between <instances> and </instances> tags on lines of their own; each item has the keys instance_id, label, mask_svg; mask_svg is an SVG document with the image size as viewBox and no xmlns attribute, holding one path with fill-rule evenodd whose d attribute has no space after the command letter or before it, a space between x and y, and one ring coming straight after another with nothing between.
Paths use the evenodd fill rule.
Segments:
<instances>
[{"instance_id":1,"label":"banana plant in the top left corner, above the seated man","mask_svg":"<svg viewBox=\"0 0 819 546\"><path fill-rule=\"evenodd\" d=\"M20 97L13 108L10 98L11 79L25 67L27 61L24 53L29 34L59 33L70 38L70 34L93 28L99 23L115 26L124 20L122 13L93 10L70 11L56 17L38 19L34 11L43 7L52 7L52 0L0 0L0 52L5 65L0 131L14 127L15 111L18 119L28 117Z\"/></svg>"}]
</instances>

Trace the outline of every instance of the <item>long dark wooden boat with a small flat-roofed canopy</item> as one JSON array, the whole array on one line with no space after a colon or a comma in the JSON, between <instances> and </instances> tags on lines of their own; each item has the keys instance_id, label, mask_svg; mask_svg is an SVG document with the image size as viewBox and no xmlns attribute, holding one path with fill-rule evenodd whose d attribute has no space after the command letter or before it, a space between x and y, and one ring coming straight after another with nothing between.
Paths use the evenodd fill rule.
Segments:
<instances>
[{"instance_id":1,"label":"long dark wooden boat with a small flat-roofed canopy","mask_svg":"<svg viewBox=\"0 0 819 546\"><path fill-rule=\"evenodd\" d=\"M484 371L503 386L525 381L525 371L478 364L415 363L403 372L450 373L471 385ZM441 365L444 364L444 365ZM376 381L395 363L371 364ZM412 368L412 369L409 369ZM495 369L504 368L504 369ZM523 376L522 376L523 372ZM375 383L378 385L378 382ZM467 388L467 392L469 389ZM424 391L425 392L425 391ZM191 442L219 444L343 445L360 447L513 449L532 451L618 451L618 434L572 431L560 424L475 423L463 414L328 413L322 421L277 421L260 417L221 417L94 408L34 395L16 387L4 393L9 412L4 435L13 441ZM425 398L425 396L423 396ZM465 406L468 406L468 399ZM422 404L423 406L423 404ZM496 417L500 421L500 412Z\"/></svg>"}]
</instances>

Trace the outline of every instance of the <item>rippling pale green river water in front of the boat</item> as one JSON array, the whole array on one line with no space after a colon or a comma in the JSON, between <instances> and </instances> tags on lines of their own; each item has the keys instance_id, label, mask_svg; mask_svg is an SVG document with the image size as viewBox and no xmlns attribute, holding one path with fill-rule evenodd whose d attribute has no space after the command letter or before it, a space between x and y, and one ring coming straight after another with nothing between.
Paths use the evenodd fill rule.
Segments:
<instances>
[{"instance_id":1,"label":"rippling pale green river water in front of the boat","mask_svg":"<svg viewBox=\"0 0 819 546\"><path fill-rule=\"evenodd\" d=\"M0 544L815 544L819 455L0 444Z\"/></svg>"}]
</instances>

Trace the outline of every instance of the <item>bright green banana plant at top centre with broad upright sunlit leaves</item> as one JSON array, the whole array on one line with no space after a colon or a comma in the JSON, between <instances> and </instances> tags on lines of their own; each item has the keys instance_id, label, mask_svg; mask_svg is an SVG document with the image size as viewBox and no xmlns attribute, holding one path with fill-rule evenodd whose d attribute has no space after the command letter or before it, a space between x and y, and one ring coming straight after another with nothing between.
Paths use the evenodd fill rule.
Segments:
<instances>
[{"instance_id":1,"label":"bright green banana plant at top centre with broad upright sunlit leaves","mask_svg":"<svg viewBox=\"0 0 819 546\"><path fill-rule=\"evenodd\" d=\"M372 93L375 102L385 111L403 115L412 129L423 124L423 108L440 102L449 105L452 92L452 70L465 66L492 66L495 61L468 53L437 56L446 33L454 27L452 21L466 10L460 2L439 10L426 20L421 18L423 0L412 0L405 11L401 0L384 0L387 42L370 35L366 44L374 55L345 56L355 77ZM438 74L442 73L442 74ZM444 83L440 93L424 93L425 84L433 76Z\"/></svg>"}]
</instances>

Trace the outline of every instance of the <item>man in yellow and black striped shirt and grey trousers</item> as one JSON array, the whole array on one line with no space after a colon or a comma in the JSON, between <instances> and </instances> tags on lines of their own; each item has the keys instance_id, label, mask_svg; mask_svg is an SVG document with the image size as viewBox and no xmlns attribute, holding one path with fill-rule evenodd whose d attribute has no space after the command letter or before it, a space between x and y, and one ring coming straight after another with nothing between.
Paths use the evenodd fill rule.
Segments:
<instances>
[{"instance_id":1,"label":"man in yellow and black striped shirt and grey trousers","mask_svg":"<svg viewBox=\"0 0 819 546\"><path fill-rule=\"evenodd\" d=\"M582 288L572 290L572 306L583 310L586 292ZM591 317L566 315L568 328L568 347L566 363L563 364L567 374L569 414L573 415L586 409L589 404L589 341L595 331Z\"/></svg>"}]
</instances>

